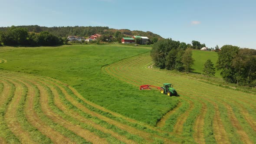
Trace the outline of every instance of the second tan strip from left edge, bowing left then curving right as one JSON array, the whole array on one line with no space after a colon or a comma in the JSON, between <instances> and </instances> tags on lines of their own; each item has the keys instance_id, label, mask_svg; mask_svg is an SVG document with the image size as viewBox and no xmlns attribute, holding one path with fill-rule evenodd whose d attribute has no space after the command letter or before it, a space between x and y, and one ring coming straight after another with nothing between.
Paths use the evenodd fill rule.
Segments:
<instances>
[{"instance_id":1,"label":"second tan strip from left edge, bowing left then curving right","mask_svg":"<svg viewBox=\"0 0 256 144\"><path fill-rule=\"evenodd\" d=\"M20 83L13 80L8 81L12 82L15 85L16 89L14 92L14 97L7 108L5 121L13 134L19 137L22 143L34 144L35 142L31 140L29 133L23 130L17 119L17 107L19 105L21 97L24 96L24 87Z\"/></svg>"}]
</instances>

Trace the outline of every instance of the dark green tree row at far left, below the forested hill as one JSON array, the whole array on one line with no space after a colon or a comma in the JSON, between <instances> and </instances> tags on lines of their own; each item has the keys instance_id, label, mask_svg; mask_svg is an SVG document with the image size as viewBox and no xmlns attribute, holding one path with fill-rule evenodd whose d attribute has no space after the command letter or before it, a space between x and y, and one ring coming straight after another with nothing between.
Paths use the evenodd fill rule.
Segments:
<instances>
[{"instance_id":1,"label":"dark green tree row at far left, below the forested hill","mask_svg":"<svg viewBox=\"0 0 256 144\"><path fill-rule=\"evenodd\" d=\"M63 44L62 37L55 36L47 31L29 33L26 28L11 26L6 31L0 31L0 44L7 46L55 46Z\"/></svg>"}]
</instances>

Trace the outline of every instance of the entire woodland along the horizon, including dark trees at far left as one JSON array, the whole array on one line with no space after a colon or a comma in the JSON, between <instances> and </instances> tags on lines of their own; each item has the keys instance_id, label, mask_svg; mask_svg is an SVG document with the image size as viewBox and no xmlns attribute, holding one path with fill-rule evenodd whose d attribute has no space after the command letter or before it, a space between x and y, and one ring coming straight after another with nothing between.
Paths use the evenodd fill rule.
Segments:
<instances>
[{"instance_id":1,"label":"entire woodland along the horizon, including dark trees at far left","mask_svg":"<svg viewBox=\"0 0 256 144\"><path fill-rule=\"evenodd\" d=\"M15 46L55 46L67 43L67 36L88 37L95 33L102 36L99 41L121 43L122 37L131 37L132 35L148 36L151 43L155 43L161 36L152 32L143 32L139 30L131 31L129 29L109 29L102 26L11 26L0 27L0 44ZM112 35L114 39L108 39ZM108 40L107 40L108 39Z\"/></svg>"}]
</instances>

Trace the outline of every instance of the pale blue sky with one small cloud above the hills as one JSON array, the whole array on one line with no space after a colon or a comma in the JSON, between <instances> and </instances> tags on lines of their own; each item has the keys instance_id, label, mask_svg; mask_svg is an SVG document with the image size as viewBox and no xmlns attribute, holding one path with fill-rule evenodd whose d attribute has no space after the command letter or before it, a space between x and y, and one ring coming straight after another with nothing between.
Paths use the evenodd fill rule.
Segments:
<instances>
[{"instance_id":1,"label":"pale blue sky with one small cloud above the hills","mask_svg":"<svg viewBox=\"0 0 256 144\"><path fill-rule=\"evenodd\" d=\"M0 0L0 26L108 26L256 49L256 0Z\"/></svg>"}]
</instances>

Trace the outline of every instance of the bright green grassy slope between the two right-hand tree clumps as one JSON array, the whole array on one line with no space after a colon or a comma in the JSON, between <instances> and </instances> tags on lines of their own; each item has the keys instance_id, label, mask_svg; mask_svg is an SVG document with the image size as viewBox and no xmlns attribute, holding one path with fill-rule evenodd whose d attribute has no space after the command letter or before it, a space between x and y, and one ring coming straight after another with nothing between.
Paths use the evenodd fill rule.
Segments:
<instances>
[{"instance_id":1,"label":"bright green grassy slope between the two right-hand tree clumps","mask_svg":"<svg viewBox=\"0 0 256 144\"><path fill-rule=\"evenodd\" d=\"M210 59L213 62L214 66L216 65L218 54L217 52L211 52L211 51L193 50L192 57L195 59L194 66L192 67L193 69L195 69L194 72L202 73L204 63L206 62L207 59ZM217 71L216 68L215 70L216 70L215 76L221 78L220 70Z\"/></svg>"}]
</instances>

